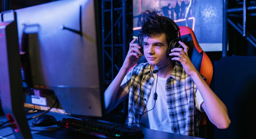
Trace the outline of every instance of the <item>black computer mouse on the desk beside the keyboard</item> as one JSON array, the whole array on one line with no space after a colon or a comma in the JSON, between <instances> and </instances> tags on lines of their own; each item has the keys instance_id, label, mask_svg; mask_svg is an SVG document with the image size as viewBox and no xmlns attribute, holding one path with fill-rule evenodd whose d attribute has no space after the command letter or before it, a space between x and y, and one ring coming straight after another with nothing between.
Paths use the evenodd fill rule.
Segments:
<instances>
[{"instance_id":1,"label":"black computer mouse on the desk beside the keyboard","mask_svg":"<svg viewBox=\"0 0 256 139\"><path fill-rule=\"evenodd\" d=\"M52 115L45 114L36 118L32 124L34 126L51 126L56 125L56 118Z\"/></svg>"}]
</instances>

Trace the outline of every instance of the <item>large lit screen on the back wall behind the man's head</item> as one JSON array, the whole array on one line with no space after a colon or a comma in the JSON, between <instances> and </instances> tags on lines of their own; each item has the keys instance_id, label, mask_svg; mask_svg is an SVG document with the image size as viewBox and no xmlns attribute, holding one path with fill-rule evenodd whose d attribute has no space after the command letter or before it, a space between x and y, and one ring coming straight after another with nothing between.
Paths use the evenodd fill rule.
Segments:
<instances>
[{"instance_id":1,"label":"large lit screen on the back wall behind the man's head","mask_svg":"<svg viewBox=\"0 0 256 139\"><path fill-rule=\"evenodd\" d=\"M140 13L156 9L173 19L178 26L195 32L204 51L222 51L222 0L133 0L133 31L137 37Z\"/></svg>"}]
</instances>

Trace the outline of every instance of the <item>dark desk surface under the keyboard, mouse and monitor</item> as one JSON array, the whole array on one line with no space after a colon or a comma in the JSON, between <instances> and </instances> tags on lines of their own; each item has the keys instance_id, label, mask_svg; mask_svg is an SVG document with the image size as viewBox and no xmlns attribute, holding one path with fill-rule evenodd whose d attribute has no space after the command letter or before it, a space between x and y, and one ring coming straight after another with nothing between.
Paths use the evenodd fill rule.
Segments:
<instances>
[{"instance_id":1,"label":"dark desk surface under the keyboard, mouse and monitor","mask_svg":"<svg viewBox=\"0 0 256 139\"><path fill-rule=\"evenodd\" d=\"M36 112L33 113L28 113L28 110L35 110ZM27 118L30 118L32 116L35 115L39 115L41 113L43 113L43 110L36 110L36 109L26 109L26 116ZM74 117L74 118L79 118L78 116L72 116L72 115L67 115L67 114L62 114L62 113L56 113L56 112L52 112L49 111L47 114L51 114L53 115L58 121L62 120L62 118L67 118L67 117ZM32 126L32 120L28 121L29 126ZM7 121L6 116L1 116L0 117L0 121ZM107 121L104 121L107 122ZM112 122L107 122L107 123L112 123ZM113 124L113 123L112 123ZM120 125L118 123L114 123L117 125ZM144 133L144 139L200 139L197 137L192 137L192 136L184 136L184 135L178 135L178 134L173 134L173 133L168 133L168 132L162 132L162 131L157 131L157 130L151 130L148 128L141 128L141 127L135 127L135 126L127 126L130 128L136 128L136 129L140 129L143 131ZM57 125L53 125L53 126L48 126L48 127L32 127L30 128L31 130L31 134L33 139L84 139L84 138L89 138L89 139L95 139L95 137L93 136L89 136L89 135L85 135L79 132L75 132L75 131L70 131L64 128L60 128ZM0 130L0 136L6 136L9 134L12 134L13 131L10 127L8 128L3 128ZM7 139L15 139L14 135L10 135L10 136L6 136L5 138Z\"/></svg>"}]
</instances>

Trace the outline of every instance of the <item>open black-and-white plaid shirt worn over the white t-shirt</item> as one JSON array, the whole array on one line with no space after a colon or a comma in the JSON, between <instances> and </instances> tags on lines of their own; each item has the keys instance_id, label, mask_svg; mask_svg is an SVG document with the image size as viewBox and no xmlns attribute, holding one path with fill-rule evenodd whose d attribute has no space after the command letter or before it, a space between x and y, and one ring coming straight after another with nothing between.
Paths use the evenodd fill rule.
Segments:
<instances>
[{"instance_id":1,"label":"open black-and-white plaid shirt worn over the white t-shirt","mask_svg":"<svg viewBox=\"0 0 256 139\"><path fill-rule=\"evenodd\" d=\"M129 87L128 123L140 126L141 115L146 109L154 78L151 66L141 63L127 73ZM200 111L195 106L196 85L176 62L167 79L165 92L172 133L198 136Z\"/></svg>"}]
</instances>

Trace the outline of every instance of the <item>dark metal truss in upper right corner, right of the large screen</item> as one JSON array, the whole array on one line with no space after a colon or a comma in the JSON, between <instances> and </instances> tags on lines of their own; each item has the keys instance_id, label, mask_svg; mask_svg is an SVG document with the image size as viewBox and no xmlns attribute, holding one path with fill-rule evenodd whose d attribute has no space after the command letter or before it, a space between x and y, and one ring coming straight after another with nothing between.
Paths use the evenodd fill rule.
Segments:
<instances>
[{"instance_id":1,"label":"dark metal truss in upper right corner, right of the large screen","mask_svg":"<svg viewBox=\"0 0 256 139\"><path fill-rule=\"evenodd\" d=\"M256 48L256 1L237 0L235 4L234 1L230 3L233 6L228 5L228 0L223 1L223 57L227 56L228 23Z\"/></svg>"}]
</instances>

